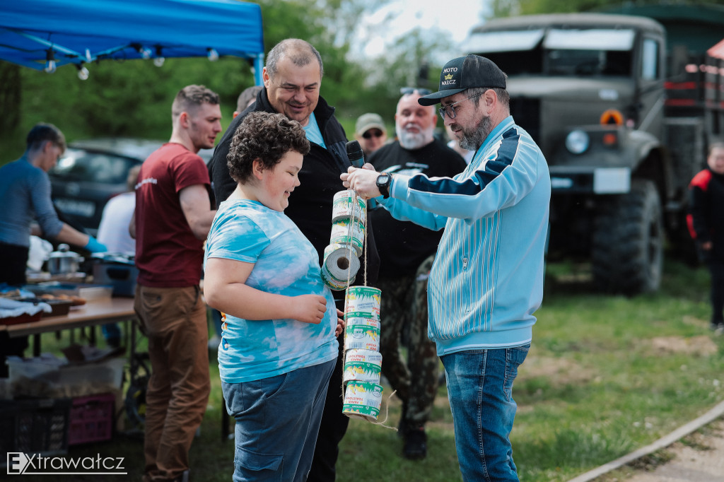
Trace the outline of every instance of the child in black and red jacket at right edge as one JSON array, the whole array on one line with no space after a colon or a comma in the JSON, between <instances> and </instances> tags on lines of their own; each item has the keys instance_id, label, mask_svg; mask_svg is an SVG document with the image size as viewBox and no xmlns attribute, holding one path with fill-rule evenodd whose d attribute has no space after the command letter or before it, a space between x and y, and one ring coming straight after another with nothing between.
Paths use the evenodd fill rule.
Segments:
<instances>
[{"instance_id":1,"label":"child in black and red jacket at right edge","mask_svg":"<svg viewBox=\"0 0 724 482\"><path fill-rule=\"evenodd\" d=\"M712 329L724 332L724 143L709 148L707 169L689 184L689 232L712 274Z\"/></svg>"}]
</instances>

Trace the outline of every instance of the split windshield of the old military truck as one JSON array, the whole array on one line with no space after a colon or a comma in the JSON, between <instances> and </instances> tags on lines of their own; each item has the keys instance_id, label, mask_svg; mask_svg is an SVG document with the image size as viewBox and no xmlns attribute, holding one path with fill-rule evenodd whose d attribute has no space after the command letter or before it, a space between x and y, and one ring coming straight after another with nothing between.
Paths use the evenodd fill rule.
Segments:
<instances>
[{"instance_id":1,"label":"split windshield of the old military truck","mask_svg":"<svg viewBox=\"0 0 724 482\"><path fill-rule=\"evenodd\" d=\"M466 50L508 75L630 76L633 30L510 30L476 33Z\"/></svg>"}]
</instances>

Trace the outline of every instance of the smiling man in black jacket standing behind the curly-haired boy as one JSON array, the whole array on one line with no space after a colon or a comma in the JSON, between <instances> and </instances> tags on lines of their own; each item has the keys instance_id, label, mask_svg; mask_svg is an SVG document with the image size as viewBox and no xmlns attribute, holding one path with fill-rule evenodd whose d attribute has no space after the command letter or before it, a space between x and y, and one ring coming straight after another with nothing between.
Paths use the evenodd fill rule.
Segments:
<instances>
[{"instance_id":1,"label":"smiling man in black jacket standing behind the curly-haired boy","mask_svg":"<svg viewBox=\"0 0 724 482\"><path fill-rule=\"evenodd\" d=\"M266 67L262 73L264 88L257 94L256 103L232 120L209 164L211 185L218 206L236 187L236 182L229 175L227 154L242 119L251 111L265 111L285 114L289 119L300 122L311 143L311 150L304 156L298 174L300 185L295 187L289 198L289 207L284 212L317 250L320 266L332 232L334 193L344 190L340 174L347 172L350 166L345 130L334 117L334 108L319 96L323 73L321 56L311 44L297 38L287 38L277 43L266 57ZM367 282L371 284L376 281L379 256L369 226L368 233L369 259L361 262L368 269ZM362 273L358 274L357 284L361 284L361 276ZM334 292L334 299L337 308L343 310L344 292ZM340 357L329 381L309 482L334 481L338 444L349 423L349 419L342 414L342 344L340 337Z\"/></svg>"}]
</instances>

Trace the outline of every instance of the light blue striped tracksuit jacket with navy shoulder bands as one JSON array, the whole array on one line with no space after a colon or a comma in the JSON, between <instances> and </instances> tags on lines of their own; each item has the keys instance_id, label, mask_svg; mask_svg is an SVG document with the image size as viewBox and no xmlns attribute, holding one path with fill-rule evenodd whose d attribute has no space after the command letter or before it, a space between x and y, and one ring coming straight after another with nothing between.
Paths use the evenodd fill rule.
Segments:
<instances>
[{"instance_id":1,"label":"light blue striped tracksuit jacket with navy shoulder bands","mask_svg":"<svg viewBox=\"0 0 724 482\"><path fill-rule=\"evenodd\" d=\"M453 178L395 175L392 216L445 228L428 282L437 354L531 341L543 298L550 174L540 149L507 117ZM384 293L382 293L384 296Z\"/></svg>"}]
</instances>

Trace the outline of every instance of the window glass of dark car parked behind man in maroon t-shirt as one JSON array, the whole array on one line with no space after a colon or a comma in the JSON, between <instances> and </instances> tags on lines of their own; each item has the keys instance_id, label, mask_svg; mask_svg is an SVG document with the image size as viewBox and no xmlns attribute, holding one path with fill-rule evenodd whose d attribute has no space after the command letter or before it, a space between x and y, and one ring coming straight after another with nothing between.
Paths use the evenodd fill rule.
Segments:
<instances>
[{"instance_id":1,"label":"window glass of dark car parked behind man in maroon t-shirt","mask_svg":"<svg viewBox=\"0 0 724 482\"><path fill-rule=\"evenodd\" d=\"M48 174L64 181L125 184L128 171L135 164L138 161L123 156L68 149Z\"/></svg>"}]
</instances>

